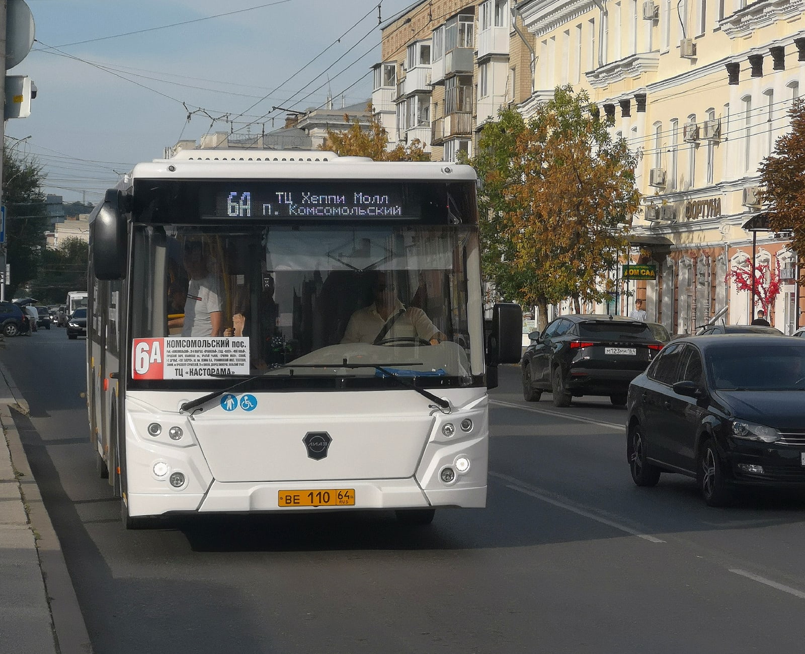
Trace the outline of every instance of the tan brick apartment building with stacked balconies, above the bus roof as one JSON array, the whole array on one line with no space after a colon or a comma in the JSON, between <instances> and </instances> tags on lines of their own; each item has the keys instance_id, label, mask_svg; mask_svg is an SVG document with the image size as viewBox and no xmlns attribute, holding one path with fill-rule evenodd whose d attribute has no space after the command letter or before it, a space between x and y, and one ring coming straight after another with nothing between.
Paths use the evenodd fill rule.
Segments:
<instances>
[{"instance_id":1,"label":"tan brick apartment building with stacked balconies, above the bus roof","mask_svg":"<svg viewBox=\"0 0 805 654\"><path fill-rule=\"evenodd\" d=\"M473 154L502 106L530 97L530 35L513 0L423 0L381 26L372 102L390 147L419 139L437 161Z\"/></svg>"}]
</instances>

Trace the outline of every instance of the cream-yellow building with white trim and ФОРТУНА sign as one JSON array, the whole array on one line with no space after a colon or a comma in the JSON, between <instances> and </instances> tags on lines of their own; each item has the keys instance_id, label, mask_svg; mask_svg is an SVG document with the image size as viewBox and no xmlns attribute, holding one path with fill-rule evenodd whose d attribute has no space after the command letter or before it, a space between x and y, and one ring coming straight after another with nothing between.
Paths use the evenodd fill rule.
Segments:
<instances>
[{"instance_id":1,"label":"cream-yellow building with white trim and \u0424\u041e\u0420\u0422\u0423\u041d\u0410 sign","mask_svg":"<svg viewBox=\"0 0 805 654\"><path fill-rule=\"evenodd\" d=\"M525 0L517 10L537 51L523 114L569 83L642 153L633 261L653 263L657 279L633 282L617 310L644 297L672 333L725 306L729 323L745 324L749 292L729 271L754 259L772 275L779 266L772 324L786 333L803 324L795 255L786 234L767 230L757 199L758 164L805 84L802 2Z\"/></svg>"}]
</instances>

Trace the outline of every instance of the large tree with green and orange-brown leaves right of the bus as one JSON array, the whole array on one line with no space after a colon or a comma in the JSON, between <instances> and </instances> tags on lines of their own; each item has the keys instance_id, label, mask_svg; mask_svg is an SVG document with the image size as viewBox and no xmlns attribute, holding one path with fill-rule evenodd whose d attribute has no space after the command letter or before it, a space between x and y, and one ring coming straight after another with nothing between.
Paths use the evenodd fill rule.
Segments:
<instances>
[{"instance_id":1,"label":"large tree with green and orange-brown leaves right of the bus","mask_svg":"<svg viewBox=\"0 0 805 654\"><path fill-rule=\"evenodd\" d=\"M539 307L539 329L549 304L604 299L609 272L628 251L638 157L609 126L586 92L559 86L530 118L501 110L470 161L483 184L485 280L502 297Z\"/></svg>"}]
</instances>

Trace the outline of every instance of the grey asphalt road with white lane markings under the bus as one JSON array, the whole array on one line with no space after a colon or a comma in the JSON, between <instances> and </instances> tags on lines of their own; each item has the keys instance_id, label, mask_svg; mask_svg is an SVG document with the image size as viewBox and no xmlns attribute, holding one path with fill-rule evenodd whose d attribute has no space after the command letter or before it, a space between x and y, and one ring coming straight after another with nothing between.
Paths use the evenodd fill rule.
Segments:
<instances>
[{"instance_id":1,"label":"grey asphalt road with white lane markings under the bus","mask_svg":"<svg viewBox=\"0 0 805 654\"><path fill-rule=\"evenodd\" d=\"M609 400L527 404L506 367L489 505L429 528L356 513L126 532L94 470L85 341L39 331L0 359L96 654L802 651L805 500L637 488Z\"/></svg>"}]
</instances>

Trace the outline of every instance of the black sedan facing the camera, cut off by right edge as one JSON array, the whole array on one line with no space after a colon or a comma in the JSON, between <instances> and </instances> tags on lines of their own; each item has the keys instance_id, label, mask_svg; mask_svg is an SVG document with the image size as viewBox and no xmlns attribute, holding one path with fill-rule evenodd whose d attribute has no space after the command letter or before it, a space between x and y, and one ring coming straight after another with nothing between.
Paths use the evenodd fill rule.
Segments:
<instances>
[{"instance_id":1,"label":"black sedan facing the camera, cut off by right edge","mask_svg":"<svg viewBox=\"0 0 805 654\"><path fill-rule=\"evenodd\" d=\"M629 387L634 482L695 478L710 506L737 486L805 490L805 341L722 334L672 341Z\"/></svg>"}]
</instances>

